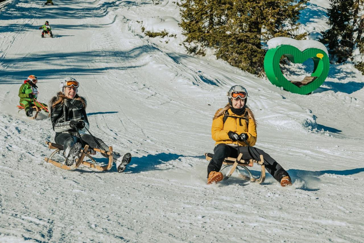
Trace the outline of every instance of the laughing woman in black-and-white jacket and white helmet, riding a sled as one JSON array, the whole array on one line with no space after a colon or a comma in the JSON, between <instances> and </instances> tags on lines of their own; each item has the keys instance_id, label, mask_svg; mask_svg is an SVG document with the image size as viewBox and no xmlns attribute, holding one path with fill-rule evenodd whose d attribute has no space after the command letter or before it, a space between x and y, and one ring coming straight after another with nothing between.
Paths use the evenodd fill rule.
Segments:
<instances>
[{"instance_id":1,"label":"laughing woman in black-and-white jacket and white helmet, riding a sled","mask_svg":"<svg viewBox=\"0 0 364 243\"><path fill-rule=\"evenodd\" d=\"M59 86L60 92L50 100L52 127L56 132L54 140L63 145L63 156L67 166L74 163L82 144L88 144L90 148L109 150L101 139L95 138L88 131L90 126L86 115L86 99L78 95L79 85L74 78L64 78ZM113 152L112 158L118 172L121 173L130 163L131 154L120 156L119 153Z\"/></svg>"}]
</instances>

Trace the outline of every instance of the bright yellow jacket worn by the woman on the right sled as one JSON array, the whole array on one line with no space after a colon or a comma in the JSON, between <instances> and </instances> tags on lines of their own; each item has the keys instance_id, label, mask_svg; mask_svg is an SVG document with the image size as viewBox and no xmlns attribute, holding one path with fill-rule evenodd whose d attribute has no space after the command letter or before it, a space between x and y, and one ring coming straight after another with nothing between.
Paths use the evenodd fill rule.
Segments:
<instances>
[{"instance_id":1,"label":"bright yellow jacket worn by the woman on the right sled","mask_svg":"<svg viewBox=\"0 0 364 243\"><path fill-rule=\"evenodd\" d=\"M216 113L218 113L219 111L221 111L221 109L218 109ZM229 135L227 135L228 132L233 131L236 132L237 134L241 134L243 132L248 134L248 139L246 139L246 142L248 142L250 146L254 146L255 143L257 142L257 128L253 120L249 118L249 124L247 128L246 120L244 118L240 119L240 117L248 117L248 112L245 111L244 115L239 116L234 114L231 109L228 109L227 111L229 112L229 116L235 116L237 118L227 117L225 123L223 123L223 115L217 117L216 119L213 119L211 126L211 134L212 134L212 139L216 141L215 144L239 143L239 145L241 146L246 146L244 142L240 141L233 142L233 140L229 138Z\"/></svg>"}]
</instances>

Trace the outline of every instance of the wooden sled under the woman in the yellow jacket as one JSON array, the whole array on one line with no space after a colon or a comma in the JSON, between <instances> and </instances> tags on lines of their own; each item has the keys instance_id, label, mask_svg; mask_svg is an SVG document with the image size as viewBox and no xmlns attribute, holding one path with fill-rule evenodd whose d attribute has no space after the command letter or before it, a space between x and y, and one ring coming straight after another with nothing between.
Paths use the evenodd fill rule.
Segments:
<instances>
[{"instance_id":1,"label":"wooden sled under the woman in the yellow jacket","mask_svg":"<svg viewBox=\"0 0 364 243\"><path fill-rule=\"evenodd\" d=\"M210 161L214 157L214 154L206 153L205 156L206 156L206 160L207 161ZM260 155L260 159L259 160L250 159L249 161L245 161L244 159L241 159L242 156L243 156L243 154L240 153L238 155L238 158L226 157L224 159L224 161L222 162L223 166L221 167L221 170L220 171L222 171L226 167L232 166L229 174L227 174L224 177L224 180L229 179L230 176L236 170L236 172L238 173L238 177L241 178L242 180L249 180L251 182L256 182L258 184L263 183L264 180L265 180L265 166L264 166L264 158L263 158L263 155ZM250 170L247 168L247 166L253 167L254 163L257 163L258 165L261 166L261 173L260 173L260 177L259 178L254 178L253 175L252 175L252 173L250 172ZM239 167L244 168L246 170L246 172L249 174L249 176L246 176L246 175L241 174L241 172L239 170Z\"/></svg>"}]
</instances>

